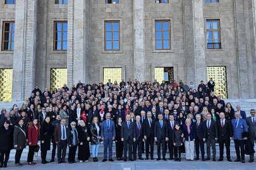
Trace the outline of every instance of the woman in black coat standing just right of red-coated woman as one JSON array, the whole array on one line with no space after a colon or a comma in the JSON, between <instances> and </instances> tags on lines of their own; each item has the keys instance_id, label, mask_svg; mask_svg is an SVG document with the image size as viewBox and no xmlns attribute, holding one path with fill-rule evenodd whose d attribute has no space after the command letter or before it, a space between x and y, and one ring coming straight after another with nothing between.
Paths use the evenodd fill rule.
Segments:
<instances>
[{"instance_id":1,"label":"woman in black coat standing just right of red-coated woman","mask_svg":"<svg viewBox=\"0 0 256 170\"><path fill-rule=\"evenodd\" d=\"M46 116L44 119L44 122L42 123L40 127L40 138L41 138L41 159L42 159L42 164L47 164L49 163L46 161L46 155L47 155L47 150L51 150L51 135L52 135L52 129L53 126L50 123L51 119L49 116Z\"/></svg>"}]
</instances>

